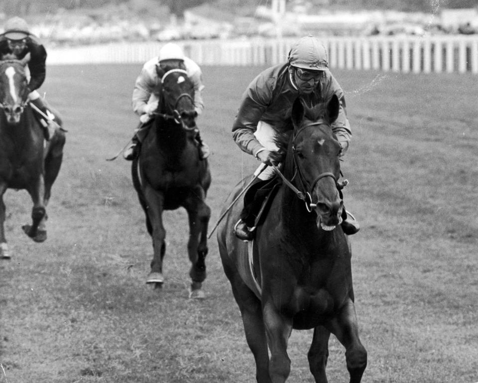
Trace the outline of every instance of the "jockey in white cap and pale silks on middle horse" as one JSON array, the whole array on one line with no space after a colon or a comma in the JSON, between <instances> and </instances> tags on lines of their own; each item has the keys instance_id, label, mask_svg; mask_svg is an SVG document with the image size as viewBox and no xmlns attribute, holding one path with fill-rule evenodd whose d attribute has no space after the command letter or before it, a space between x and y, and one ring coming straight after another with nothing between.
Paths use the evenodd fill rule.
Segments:
<instances>
[{"instance_id":1,"label":"jockey in white cap and pale silks on middle horse","mask_svg":"<svg viewBox=\"0 0 478 383\"><path fill-rule=\"evenodd\" d=\"M186 70L194 86L194 105L198 116L204 109L201 97L201 91L204 89L201 68L184 55L179 45L173 43L165 44L159 50L157 57L153 57L143 65L141 73L134 84L132 106L133 111L139 115L140 124L135 130L131 144L123 152L123 157L127 160L132 160L136 157L138 143L146 136L147 129L153 120L154 112L158 109L161 96L160 93L155 91L158 90L161 78L158 76L157 69L158 67L164 69L171 66ZM197 130L196 140L199 142L201 159L207 158L209 147L201 140L199 129Z\"/></svg>"}]
</instances>

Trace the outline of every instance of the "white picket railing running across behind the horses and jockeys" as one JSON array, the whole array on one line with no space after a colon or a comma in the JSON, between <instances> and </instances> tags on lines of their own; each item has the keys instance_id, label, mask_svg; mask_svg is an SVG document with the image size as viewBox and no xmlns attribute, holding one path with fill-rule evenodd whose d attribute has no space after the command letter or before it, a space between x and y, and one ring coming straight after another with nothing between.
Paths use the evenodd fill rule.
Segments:
<instances>
[{"instance_id":1,"label":"white picket railing running across behind the horses and jockeys","mask_svg":"<svg viewBox=\"0 0 478 383\"><path fill-rule=\"evenodd\" d=\"M285 62L292 39L177 41L200 65L274 65ZM478 35L323 38L331 68L403 73L478 74ZM129 42L49 48L47 63L143 63L162 42Z\"/></svg>"}]
</instances>

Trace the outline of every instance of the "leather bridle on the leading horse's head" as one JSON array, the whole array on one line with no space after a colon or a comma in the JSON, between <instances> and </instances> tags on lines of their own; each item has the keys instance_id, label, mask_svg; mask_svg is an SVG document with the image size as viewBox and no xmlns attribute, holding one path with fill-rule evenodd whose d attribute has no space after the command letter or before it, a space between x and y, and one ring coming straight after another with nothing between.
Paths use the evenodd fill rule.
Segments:
<instances>
[{"instance_id":1,"label":"leather bridle on the leading horse's head","mask_svg":"<svg viewBox=\"0 0 478 383\"><path fill-rule=\"evenodd\" d=\"M306 125L305 127L300 128L299 130L297 130L294 133L294 136L292 138L292 152L293 152L292 162L293 162L293 165L294 165L294 168L295 168L295 173L292 176L292 179L290 181L287 178L284 177L284 175L282 174L282 172L279 170L279 168L277 166L272 165L273 168L274 168L274 171L279 175L279 177L282 179L282 181L297 195L298 198L300 198L302 201L305 202L305 208L307 209L307 211L309 213L312 212L312 209L317 206L317 204L312 203L312 191L314 190L314 187L317 184L317 182L319 182L319 180L321 180L322 178L325 178L325 177L332 177L334 179L334 182L335 182L335 185L336 185L337 189L339 189L339 190L343 189L348 184L347 180L344 180L343 182L338 182L337 177L335 176L334 173L324 172L324 173L320 173L317 177L315 177L315 179L310 183L310 186L308 188L309 190L307 190L306 184L308 182L305 180L305 177L303 175L303 170L302 170L302 167L301 167L300 162L298 160L298 154L297 154L297 150L295 150L295 143L294 142L302 131L304 131L307 128L315 127L315 126L319 126L319 125L327 125L327 124L324 124L322 122L313 122L313 123L310 123L310 124ZM297 178L298 178L298 181L300 183L301 189L306 190L305 192L300 191L298 188L296 188L292 184L291 181L294 180L296 175L298 175Z\"/></svg>"}]
</instances>

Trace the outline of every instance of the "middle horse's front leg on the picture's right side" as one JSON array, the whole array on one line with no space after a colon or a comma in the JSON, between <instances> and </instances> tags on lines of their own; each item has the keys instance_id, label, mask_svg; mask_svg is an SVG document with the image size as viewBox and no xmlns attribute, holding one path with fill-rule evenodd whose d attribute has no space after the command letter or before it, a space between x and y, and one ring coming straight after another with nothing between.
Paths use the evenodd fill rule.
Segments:
<instances>
[{"instance_id":1,"label":"middle horse's front leg on the picture's right side","mask_svg":"<svg viewBox=\"0 0 478 383\"><path fill-rule=\"evenodd\" d=\"M201 191L204 197L204 192ZM198 203L199 202L199 203ZM206 255L208 254L207 232L211 209L204 200L194 200L194 203L185 204L189 217L188 255L191 261L189 275L191 277L191 298L204 298L201 290L202 282L206 279Z\"/></svg>"}]
</instances>

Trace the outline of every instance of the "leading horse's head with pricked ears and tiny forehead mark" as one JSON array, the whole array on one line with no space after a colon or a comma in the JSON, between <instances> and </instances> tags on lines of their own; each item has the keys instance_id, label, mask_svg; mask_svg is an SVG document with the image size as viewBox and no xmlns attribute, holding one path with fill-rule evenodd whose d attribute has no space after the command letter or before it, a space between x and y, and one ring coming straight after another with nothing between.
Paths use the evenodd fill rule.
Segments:
<instances>
[{"instance_id":1,"label":"leading horse's head with pricked ears and tiny forehead mark","mask_svg":"<svg viewBox=\"0 0 478 383\"><path fill-rule=\"evenodd\" d=\"M307 209L315 210L317 225L324 230L332 230L342 222L344 206L337 188L341 145L331 128L339 106L334 95L325 107L311 109L297 99L292 108L294 132L287 155L291 159L287 162L296 173L298 189L305 193Z\"/></svg>"}]
</instances>

